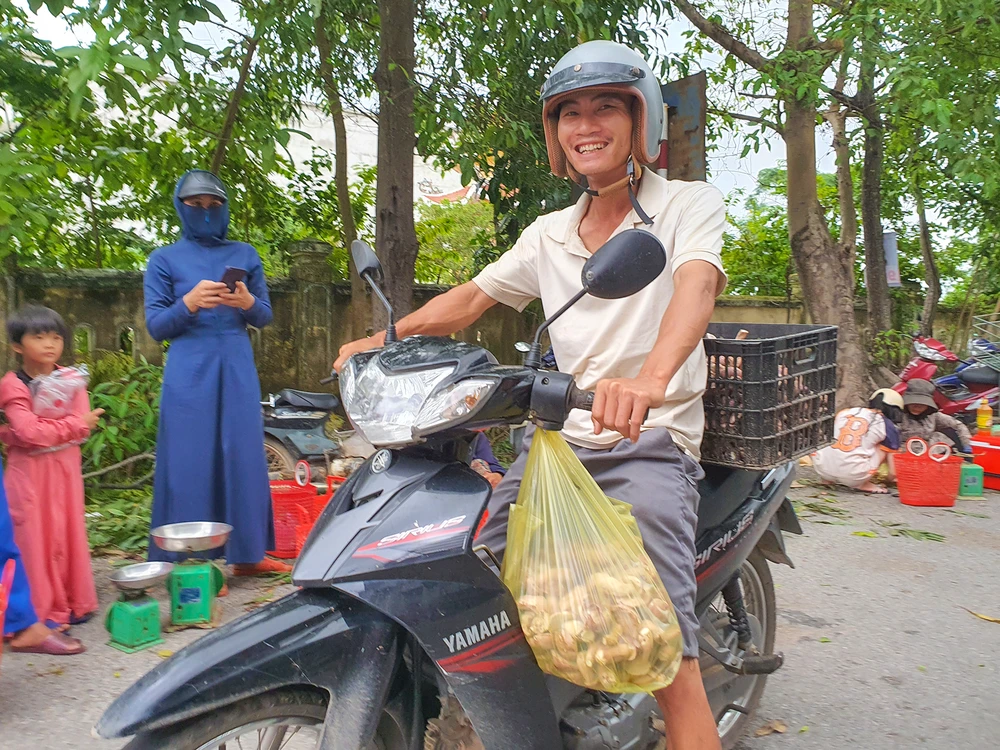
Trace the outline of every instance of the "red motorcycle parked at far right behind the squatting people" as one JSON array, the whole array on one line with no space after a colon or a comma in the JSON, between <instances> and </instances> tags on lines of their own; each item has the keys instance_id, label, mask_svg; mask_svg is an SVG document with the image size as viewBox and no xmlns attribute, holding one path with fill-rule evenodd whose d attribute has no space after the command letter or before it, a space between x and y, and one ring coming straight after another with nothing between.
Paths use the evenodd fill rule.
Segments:
<instances>
[{"instance_id":1,"label":"red motorcycle parked at far right behind the squatting people","mask_svg":"<svg viewBox=\"0 0 1000 750\"><path fill-rule=\"evenodd\" d=\"M934 401L938 409L966 424L973 424L976 409L984 398L996 409L1000 399L1000 372L975 359L977 352L996 354L998 347L995 344L974 339L969 350L973 359L963 360L937 339L914 336L914 357L899 374L900 382L893 389L905 393L910 380L930 380L936 386ZM951 375L935 377L939 362L957 362L958 367Z\"/></svg>"}]
</instances>

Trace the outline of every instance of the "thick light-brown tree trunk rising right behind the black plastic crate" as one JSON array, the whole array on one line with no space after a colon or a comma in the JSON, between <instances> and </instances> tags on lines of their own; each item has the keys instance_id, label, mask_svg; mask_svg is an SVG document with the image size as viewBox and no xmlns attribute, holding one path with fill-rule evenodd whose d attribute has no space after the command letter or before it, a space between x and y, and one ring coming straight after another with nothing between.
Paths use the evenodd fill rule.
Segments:
<instances>
[{"instance_id":1,"label":"thick light-brown tree trunk rising right behind the black plastic crate","mask_svg":"<svg viewBox=\"0 0 1000 750\"><path fill-rule=\"evenodd\" d=\"M789 0L790 49L814 41L811 0ZM816 106L807 95L785 100L783 133L788 159L788 232L809 315L838 326L837 399L858 404L870 385L865 349L854 316L854 253L837 245L819 204L816 188Z\"/></svg>"}]
</instances>

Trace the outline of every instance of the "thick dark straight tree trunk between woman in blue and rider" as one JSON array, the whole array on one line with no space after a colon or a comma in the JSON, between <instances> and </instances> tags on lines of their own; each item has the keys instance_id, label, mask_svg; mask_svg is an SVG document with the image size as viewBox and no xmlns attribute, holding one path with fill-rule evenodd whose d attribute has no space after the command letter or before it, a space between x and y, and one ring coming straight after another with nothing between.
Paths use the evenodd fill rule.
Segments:
<instances>
[{"instance_id":1,"label":"thick dark straight tree trunk between woman in blue and rider","mask_svg":"<svg viewBox=\"0 0 1000 750\"><path fill-rule=\"evenodd\" d=\"M381 38L375 83L379 92L378 182L375 238L385 270L385 292L396 317L413 308L417 233L413 224L414 5L413 0L379 0ZM385 320L374 304L376 327Z\"/></svg>"}]
</instances>

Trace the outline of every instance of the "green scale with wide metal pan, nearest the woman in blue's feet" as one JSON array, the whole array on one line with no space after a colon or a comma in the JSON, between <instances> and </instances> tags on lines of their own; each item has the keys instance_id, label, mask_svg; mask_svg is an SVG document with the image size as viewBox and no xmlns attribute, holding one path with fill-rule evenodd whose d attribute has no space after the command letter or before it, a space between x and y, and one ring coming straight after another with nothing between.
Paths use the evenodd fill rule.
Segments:
<instances>
[{"instance_id":1,"label":"green scale with wide metal pan, nearest the woman in blue's feet","mask_svg":"<svg viewBox=\"0 0 1000 750\"><path fill-rule=\"evenodd\" d=\"M221 547L232 530L227 523L193 521L159 526L150 536L162 550L191 555ZM213 562L185 560L177 563L167 578L171 629L215 627L221 615L216 597L225 583L225 575Z\"/></svg>"}]
</instances>

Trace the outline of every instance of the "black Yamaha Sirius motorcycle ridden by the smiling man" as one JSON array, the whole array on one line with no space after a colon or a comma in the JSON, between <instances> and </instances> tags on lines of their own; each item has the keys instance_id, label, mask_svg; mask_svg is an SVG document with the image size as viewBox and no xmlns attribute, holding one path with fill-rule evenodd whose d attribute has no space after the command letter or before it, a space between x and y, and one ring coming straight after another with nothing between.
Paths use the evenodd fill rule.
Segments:
<instances>
[{"instance_id":1,"label":"black Yamaha Sirius motorcycle ridden by the smiling man","mask_svg":"<svg viewBox=\"0 0 1000 750\"><path fill-rule=\"evenodd\" d=\"M159 664L96 734L134 735L128 750L454 750L478 746L476 734L487 750L662 748L653 696L588 690L538 668L499 562L476 543L491 487L466 457L475 429L526 418L559 429L571 409L590 408L593 393L572 376L539 369L541 332L584 294L642 289L664 268L663 246L642 230L609 240L523 366L449 338L398 341L378 259L360 242L352 255L390 323L384 348L348 360L340 391L378 450L317 521L292 574L300 589ZM768 563L791 566L782 535L802 530L786 498L793 464L706 471L700 665L731 748L782 664ZM434 718L443 706L461 708Z\"/></svg>"}]
</instances>

